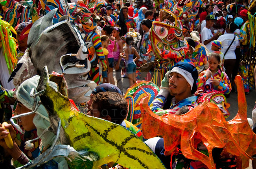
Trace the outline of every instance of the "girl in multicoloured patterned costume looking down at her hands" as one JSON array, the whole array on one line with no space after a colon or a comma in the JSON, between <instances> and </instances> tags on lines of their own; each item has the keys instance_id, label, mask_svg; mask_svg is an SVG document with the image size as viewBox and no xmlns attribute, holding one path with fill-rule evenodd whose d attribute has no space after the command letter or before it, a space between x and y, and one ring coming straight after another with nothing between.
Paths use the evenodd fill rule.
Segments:
<instances>
[{"instance_id":1,"label":"girl in multicoloured patterned costume looking down at her hands","mask_svg":"<svg viewBox=\"0 0 256 169\"><path fill-rule=\"evenodd\" d=\"M199 74L197 79L197 91L224 91L225 94L230 93L231 84L225 72L222 72L219 64L221 57L219 54L212 52L208 58L209 68Z\"/></svg>"}]
</instances>

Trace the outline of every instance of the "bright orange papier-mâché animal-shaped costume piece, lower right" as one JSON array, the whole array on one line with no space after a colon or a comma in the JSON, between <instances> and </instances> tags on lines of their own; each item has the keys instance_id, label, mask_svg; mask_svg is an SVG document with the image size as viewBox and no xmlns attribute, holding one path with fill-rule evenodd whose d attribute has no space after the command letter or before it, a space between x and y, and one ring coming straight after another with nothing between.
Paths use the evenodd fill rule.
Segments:
<instances>
[{"instance_id":1,"label":"bright orange papier-m\u00e2ch\u00e9 animal-shaped costume piece, lower right","mask_svg":"<svg viewBox=\"0 0 256 169\"><path fill-rule=\"evenodd\" d=\"M224 148L222 155L236 156L238 169L249 166L251 155L256 154L256 134L247 121L247 104L241 76L235 79L238 88L238 114L226 121L215 104L203 102L184 115L155 115L145 97L140 102L142 131L144 138L163 137L165 154L171 155L178 145L182 154L189 159L203 162L209 169L215 169L212 149ZM203 142L209 156L197 151L197 144Z\"/></svg>"}]
</instances>

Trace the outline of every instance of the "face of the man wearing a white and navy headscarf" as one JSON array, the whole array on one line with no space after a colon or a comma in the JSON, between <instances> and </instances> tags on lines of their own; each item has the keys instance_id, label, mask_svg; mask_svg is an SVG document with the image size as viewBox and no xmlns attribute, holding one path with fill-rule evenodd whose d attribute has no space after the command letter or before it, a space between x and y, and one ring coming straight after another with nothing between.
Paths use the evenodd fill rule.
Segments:
<instances>
[{"instance_id":1,"label":"face of the man wearing a white and navy headscarf","mask_svg":"<svg viewBox=\"0 0 256 169\"><path fill-rule=\"evenodd\" d=\"M171 72L169 74L169 90L170 95L176 96L180 95L189 88L189 83L186 79L176 72Z\"/></svg>"}]
</instances>

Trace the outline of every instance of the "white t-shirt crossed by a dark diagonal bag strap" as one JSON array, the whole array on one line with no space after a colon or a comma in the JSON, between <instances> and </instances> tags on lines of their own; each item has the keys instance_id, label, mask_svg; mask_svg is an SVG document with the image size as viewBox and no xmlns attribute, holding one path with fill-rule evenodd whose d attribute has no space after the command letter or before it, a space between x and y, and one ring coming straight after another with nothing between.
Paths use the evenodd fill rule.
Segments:
<instances>
[{"instance_id":1,"label":"white t-shirt crossed by a dark diagonal bag strap","mask_svg":"<svg viewBox=\"0 0 256 169\"><path fill-rule=\"evenodd\" d=\"M228 34L224 34L224 35L221 35L219 36L218 40L221 41L222 43L222 49L221 49L221 52L223 54L225 54L226 50L228 49L230 43L233 41L234 39L234 34L232 33L228 33ZM236 36L236 39L234 40L234 42L232 43L232 45L230 46L230 48L228 49L228 52L227 54L225 55L225 60L226 59L236 59L236 54L235 54L235 50L236 50L236 47L239 46L239 40L238 40L238 37Z\"/></svg>"}]
</instances>

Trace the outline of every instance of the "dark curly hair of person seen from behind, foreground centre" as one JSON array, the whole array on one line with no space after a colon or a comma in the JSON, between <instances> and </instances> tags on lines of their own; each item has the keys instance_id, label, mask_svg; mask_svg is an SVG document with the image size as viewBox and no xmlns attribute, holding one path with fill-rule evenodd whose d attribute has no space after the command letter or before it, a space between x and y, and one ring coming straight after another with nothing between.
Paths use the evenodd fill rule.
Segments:
<instances>
[{"instance_id":1,"label":"dark curly hair of person seen from behind, foreground centre","mask_svg":"<svg viewBox=\"0 0 256 169\"><path fill-rule=\"evenodd\" d=\"M127 115L127 102L122 95L115 92L99 92L92 98L93 104L97 105L100 117L111 117L111 122L121 124Z\"/></svg>"}]
</instances>

